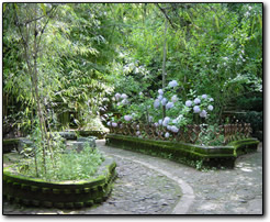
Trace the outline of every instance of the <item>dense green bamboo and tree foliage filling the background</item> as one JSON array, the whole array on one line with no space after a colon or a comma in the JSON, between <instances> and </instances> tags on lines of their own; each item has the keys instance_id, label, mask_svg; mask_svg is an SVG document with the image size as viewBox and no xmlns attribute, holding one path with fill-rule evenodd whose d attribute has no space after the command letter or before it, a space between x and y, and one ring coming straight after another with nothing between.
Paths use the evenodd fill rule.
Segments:
<instances>
[{"instance_id":1,"label":"dense green bamboo and tree foliage filling the background","mask_svg":"<svg viewBox=\"0 0 270 222\"><path fill-rule=\"evenodd\" d=\"M50 131L214 125L261 98L262 3L3 3L3 132L40 127L44 167Z\"/></svg>"}]
</instances>

